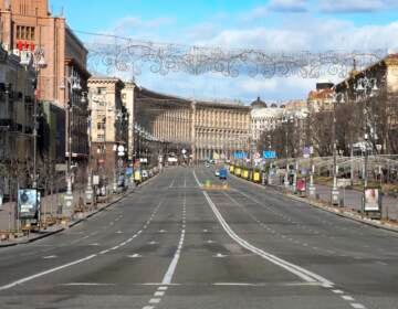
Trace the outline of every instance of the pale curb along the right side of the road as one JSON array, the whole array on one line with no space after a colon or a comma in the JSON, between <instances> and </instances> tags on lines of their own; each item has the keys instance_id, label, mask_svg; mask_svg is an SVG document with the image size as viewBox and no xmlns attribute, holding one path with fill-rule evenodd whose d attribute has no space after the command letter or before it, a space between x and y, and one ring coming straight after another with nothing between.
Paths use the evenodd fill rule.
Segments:
<instances>
[{"instance_id":1,"label":"pale curb along the right side of the road","mask_svg":"<svg viewBox=\"0 0 398 309\"><path fill-rule=\"evenodd\" d=\"M371 219L363 219L363 217L359 217L353 213L349 213L349 212L341 212L339 210L337 209L334 209L334 207L329 207L329 206L324 206L324 205L321 205L318 204L317 202L314 202L314 201L311 201L311 200L304 200L303 198L297 198L295 195L292 195L290 193L283 193L283 192L280 192L279 190L276 190L275 188L273 187L264 187L262 184L259 184L259 183L254 183L254 182L251 182L251 181L247 181L247 180L243 180L234 174L230 174L232 175L234 179L237 180L240 180L240 181L243 181L243 182L248 182L249 184L252 184L252 185L256 185L256 187L260 187L262 188L263 190L269 190L269 189L272 189L273 192L275 192L276 194L280 194L280 195L283 195L283 196L286 196L291 200L294 200L296 202L301 202L301 203L304 203L304 204L307 204L310 206L313 206L313 207L316 207L318 210L322 210L322 211L325 211L325 212L328 212L328 213L333 213L335 215L338 215L338 216L342 216L342 217L345 217L345 219L348 219L348 220L353 220L353 221L356 221L356 222L359 222L359 223L363 223L363 224L366 224L366 225L369 225L371 227L375 227L375 228L383 228L383 230L386 230L386 231L389 231L389 232L396 232L398 233L398 227L396 226L388 226L379 221L374 221Z\"/></svg>"}]
</instances>

